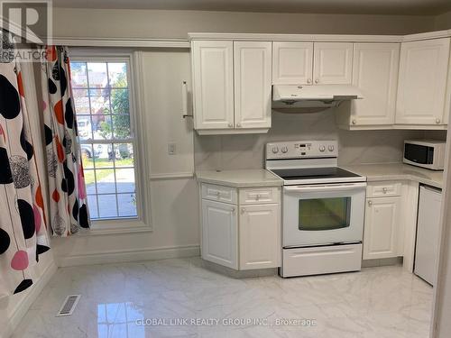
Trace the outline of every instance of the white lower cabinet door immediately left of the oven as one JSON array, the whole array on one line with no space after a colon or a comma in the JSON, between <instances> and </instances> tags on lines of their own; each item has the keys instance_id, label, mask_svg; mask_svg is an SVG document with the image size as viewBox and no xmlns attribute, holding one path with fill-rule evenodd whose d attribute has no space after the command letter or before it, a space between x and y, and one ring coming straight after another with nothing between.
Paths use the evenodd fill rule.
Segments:
<instances>
[{"instance_id":1,"label":"white lower cabinet door immediately left of the oven","mask_svg":"<svg viewBox=\"0 0 451 338\"><path fill-rule=\"evenodd\" d=\"M281 266L281 206L240 207L240 269Z\"/></svg>"}]
</instances>

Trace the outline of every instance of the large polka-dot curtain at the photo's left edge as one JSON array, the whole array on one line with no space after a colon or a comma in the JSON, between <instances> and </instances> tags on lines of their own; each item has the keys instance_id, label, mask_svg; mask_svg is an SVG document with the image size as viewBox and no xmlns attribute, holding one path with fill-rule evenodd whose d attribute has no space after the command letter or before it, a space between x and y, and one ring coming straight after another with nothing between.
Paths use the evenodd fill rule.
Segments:
<instances>
[{"instance_id":1,"label":"large polka-dot curtain at the photo's left edge","mask_svg":"<svg viewBox=\"0 0 451 338\"><path fill-rule=\"evenodd\" d=\"M0 60L0 297L29 288L30 269L50 249L28 116L39 113L27 111L24 80L33 79L19 62Z\"/></svg>"}]
</instances>

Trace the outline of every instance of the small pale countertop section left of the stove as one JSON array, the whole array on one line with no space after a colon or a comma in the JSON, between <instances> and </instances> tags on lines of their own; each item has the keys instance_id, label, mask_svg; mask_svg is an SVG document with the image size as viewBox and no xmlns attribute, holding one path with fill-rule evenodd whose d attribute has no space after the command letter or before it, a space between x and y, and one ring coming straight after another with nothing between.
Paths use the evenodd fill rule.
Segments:
<instances>
[{"instance_id":1,"label":"small pale countertop section left of the stove","mask_svg":"<svg viewBox=\"0 0 451 338\"><path fill-rule=\"evenodd\" d=\"M265 169L242 170L200 170L196 178L203 183L227 187L274 187L282 186L283 181Z\"/></svg>"}]
</instances>

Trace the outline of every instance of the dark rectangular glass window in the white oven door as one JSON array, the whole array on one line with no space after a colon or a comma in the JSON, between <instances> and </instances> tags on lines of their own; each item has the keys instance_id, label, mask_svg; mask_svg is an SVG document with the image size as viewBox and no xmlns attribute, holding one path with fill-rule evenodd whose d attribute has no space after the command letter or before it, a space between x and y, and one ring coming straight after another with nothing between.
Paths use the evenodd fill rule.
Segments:
<instances>
[{"instance_id":1,"label":"dark rectangular glass window in the white oven door","mask_svg":"<svg viewBox=\"0 0 451 338\"><path fill-rule=\"evenodd\" d=\"M351 197L299 199L299 230L334 230L349 226Z\"/></svg>"}]
</instances>

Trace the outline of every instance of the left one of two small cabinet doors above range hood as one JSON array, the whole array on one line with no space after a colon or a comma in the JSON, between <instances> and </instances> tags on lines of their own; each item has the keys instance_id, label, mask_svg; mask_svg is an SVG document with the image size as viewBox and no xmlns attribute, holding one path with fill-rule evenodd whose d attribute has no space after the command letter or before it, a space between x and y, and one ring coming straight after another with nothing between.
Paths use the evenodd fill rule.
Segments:
<instances>
[{"instance_id":1,"label":"left one of two small cabinet doors above range hood","mask_svg":"<svg viewBox=\"0 0 451 338\"><path fill-rule=\"evenodd\" d=\"M272 83L312 83L313 42L272 42Z\"/></svg>"}]
</instances>

